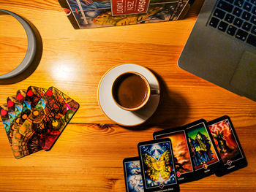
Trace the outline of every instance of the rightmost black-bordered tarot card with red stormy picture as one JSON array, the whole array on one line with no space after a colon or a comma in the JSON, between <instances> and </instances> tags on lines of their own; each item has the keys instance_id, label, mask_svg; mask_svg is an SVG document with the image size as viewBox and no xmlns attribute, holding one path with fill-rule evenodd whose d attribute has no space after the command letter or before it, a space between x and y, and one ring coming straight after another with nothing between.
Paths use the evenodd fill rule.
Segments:
<instances>
[{"instance_id":1,"label":"rightmost black-bordered tarot card with red stormy picture","mask_svg":"<svg viewBox=\"0 0 256 192\"><path fill-rule=\"evenodd\" d=\"M223 166L217 169L216 175L222 176L247 166L247 161L238 141L235 128L228 116L208 122L208 128L217 145Z\"/></svg>"}]
</instances>

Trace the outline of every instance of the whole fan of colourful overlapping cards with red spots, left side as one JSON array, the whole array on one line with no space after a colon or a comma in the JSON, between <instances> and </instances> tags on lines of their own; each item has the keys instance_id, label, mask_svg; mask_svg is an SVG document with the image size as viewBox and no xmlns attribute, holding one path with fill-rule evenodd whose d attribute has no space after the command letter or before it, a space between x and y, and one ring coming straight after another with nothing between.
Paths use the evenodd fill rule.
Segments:
<instances>
[{"instance_id":1,"label":"whole fan of colourful overlapping cards with red spots, left side","mask_svg":"<svg viewBox=\"0 0 256 192\"><path fill-rule=\"evenodd\" d=\"M9 96L0 115L15 158L50 150L78 108L76 101L54 87L30 86Z\"/></svg>"}]
</instances>

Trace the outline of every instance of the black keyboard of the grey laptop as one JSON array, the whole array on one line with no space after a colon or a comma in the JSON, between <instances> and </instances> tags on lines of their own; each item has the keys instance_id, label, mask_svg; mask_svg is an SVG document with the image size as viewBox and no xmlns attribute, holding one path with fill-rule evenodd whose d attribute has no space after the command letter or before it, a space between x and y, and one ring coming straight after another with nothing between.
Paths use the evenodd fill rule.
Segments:
<instances>
[{"instance_id":1,"label":"black keyboard of the grey laptop","mask_svg":"<svg viewBox=\"0 0 256 192\"><path fill-rule=\"evenodd\" d=\"M209 26L256 47L256 0L218 0Z\"/></svg>"}]
</instances>

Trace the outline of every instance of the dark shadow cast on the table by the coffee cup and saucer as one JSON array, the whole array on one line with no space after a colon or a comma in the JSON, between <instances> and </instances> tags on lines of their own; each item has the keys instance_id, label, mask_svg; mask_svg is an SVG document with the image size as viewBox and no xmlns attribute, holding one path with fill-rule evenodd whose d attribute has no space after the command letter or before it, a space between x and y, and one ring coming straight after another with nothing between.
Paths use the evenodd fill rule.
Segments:
<instances>
[{"instance_id":1,"label":"dark shadow cast on the table by the coffee cup and saucer","mask_svg":"<svg viewBox=\"0 0 256 192\"><path fill-rule=\"evenodd\" d=\"M173 128L184 125L185 119L189 115L187 101L179 93L169 91L162 77L153 72L159 81L161 93L159 106L154 115L141 126L124 127L133 131L141 131L151 127Z\"/></svg>"}]
</instances>

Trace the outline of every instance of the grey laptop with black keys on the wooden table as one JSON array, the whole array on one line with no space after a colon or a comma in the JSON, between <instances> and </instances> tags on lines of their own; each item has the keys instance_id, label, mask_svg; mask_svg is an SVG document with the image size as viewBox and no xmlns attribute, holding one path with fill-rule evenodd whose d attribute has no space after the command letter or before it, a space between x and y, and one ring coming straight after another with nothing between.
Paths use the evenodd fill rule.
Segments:
<instances>
[{"instance_id":1,"label":"grey laptop with black keys on the wooden table","mask_svg":"<svg viewBox=\"0 0 256 192\"><path fill-rule=\"evenodd\" d=\"M256 101L256 0L206 0L178 66Z\"/></svg>"}]
</instances>

